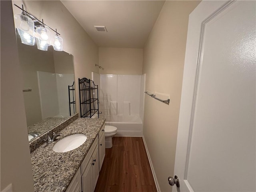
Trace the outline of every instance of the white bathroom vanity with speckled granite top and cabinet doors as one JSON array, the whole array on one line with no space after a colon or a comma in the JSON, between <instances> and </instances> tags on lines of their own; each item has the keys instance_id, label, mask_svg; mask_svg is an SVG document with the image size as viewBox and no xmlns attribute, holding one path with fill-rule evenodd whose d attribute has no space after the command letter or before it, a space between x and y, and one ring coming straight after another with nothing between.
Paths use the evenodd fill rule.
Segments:
<instances>
[{"instance_id":1,"label":"white bathroom vanity with speckled granite top and cabinet doors","mask_svg":"<svg viewBox=\"0 0 256 192\"><path fill-rule=\"evenodd\" d=\"M31 153L36 192L94 191L105 156L105 119L78 118L60 131L58 140L44 143ZM54 152L53 146L66 136L84 134L86 142L68 152Z\"/></svg>"}]
</instances>

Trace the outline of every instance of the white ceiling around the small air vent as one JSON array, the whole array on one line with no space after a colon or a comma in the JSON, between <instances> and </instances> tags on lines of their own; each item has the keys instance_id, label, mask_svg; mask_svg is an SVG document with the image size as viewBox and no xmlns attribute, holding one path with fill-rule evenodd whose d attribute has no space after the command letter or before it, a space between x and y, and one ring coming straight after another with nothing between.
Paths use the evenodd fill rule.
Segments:
<instances>
[{"instance_id":1,"label":"white ceiling around the small air vent","mask_svg":"<svg viewBox=\"0 0 256 192\"><path fill-rule=\"evenodd\" d=\"M99 47L143 48L164 4L160 0L62 0ZM108 32L97 32L106 26Z\"/></svg>"}]
</instances>

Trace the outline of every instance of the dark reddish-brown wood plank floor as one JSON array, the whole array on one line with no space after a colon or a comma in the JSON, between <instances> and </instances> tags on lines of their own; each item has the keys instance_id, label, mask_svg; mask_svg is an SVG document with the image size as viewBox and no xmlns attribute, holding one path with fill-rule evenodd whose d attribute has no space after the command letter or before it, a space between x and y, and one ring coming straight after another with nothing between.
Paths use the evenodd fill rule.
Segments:
<instances>
[{"instance_id":1,"label":"dark reddish-brown wood plank floor","mask_svg":"<svg viewBox=\"0 0 256 192\"><path fill-rule=\"evenodd\" d=\"M142 137L113 137L94 192L157 192Z\"/></svg>"}]
</instances>

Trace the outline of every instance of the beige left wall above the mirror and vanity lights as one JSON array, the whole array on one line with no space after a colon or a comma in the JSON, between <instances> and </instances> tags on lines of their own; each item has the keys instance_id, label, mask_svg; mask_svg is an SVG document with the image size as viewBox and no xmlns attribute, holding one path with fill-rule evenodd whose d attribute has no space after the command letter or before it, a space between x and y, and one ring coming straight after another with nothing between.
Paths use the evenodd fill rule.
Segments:
<instances>
[{"instance_id":1,"label":"beige left wall above the mirror and vanity lights","mask_svg":"<svg viewBox=\"0 0 256 192\"><path fill-rule=\"evenodd\" d=\"M70 14L60 1L25 0L13 1L25 10L36 16L51 28L57 28L64 39L64 51L74 56L74 72L76 85L76 100L79 101L78 78L91 78L91 72L98 72L95 64L98 64L98 46L92 41L80 24ZM20 14L20 10L13 8L14 13ZM79 112L79 102L76 102L76 111Z\"/></svg>"}]
</instances>

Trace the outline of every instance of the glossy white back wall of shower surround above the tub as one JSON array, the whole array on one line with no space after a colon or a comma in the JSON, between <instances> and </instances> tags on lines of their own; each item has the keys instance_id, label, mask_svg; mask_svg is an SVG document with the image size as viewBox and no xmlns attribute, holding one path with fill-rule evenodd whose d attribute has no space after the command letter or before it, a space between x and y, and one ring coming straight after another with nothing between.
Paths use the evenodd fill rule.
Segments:
<instances>
[{"instance_id":1,"label":"glossy white back wall of shower surround above the tub","mask_svg":"<svg viewBox=\"0 0 256 192\"><path fill-rule=\"evenodd\" d=\"M110 116L140 116L141 75L100 74L100 108Z\"/></svg>"}]
</instances>

